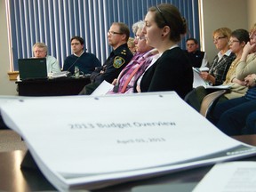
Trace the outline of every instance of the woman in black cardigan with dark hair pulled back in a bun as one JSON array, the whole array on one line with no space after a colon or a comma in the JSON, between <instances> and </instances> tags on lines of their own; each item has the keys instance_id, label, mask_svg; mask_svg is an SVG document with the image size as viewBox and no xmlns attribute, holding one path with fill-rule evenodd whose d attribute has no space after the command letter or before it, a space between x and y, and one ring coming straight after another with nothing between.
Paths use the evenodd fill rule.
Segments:
<instances>
[{"instance_id":1,"label":"woman in black cardigan with dark hair pulled back in a bun","mask_svg":"<svg viewBox=\"0 0 256 192\"><path fill-rule=\"evenodd\" d=\"M175 91L184 99L192 90L193 71L178 43L187 32L186 20L172 4L151 7L142 33L159 52L134 85L135 92Z\"/></svg>"}]
</instances>

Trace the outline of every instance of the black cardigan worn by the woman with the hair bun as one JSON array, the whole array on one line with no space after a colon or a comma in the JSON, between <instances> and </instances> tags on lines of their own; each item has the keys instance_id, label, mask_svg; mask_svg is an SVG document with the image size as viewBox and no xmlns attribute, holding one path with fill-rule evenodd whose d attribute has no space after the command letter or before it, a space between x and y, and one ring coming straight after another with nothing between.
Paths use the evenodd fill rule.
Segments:
<instances>
[{"instance_id":1,"label":"black cardigan worn by the woman with the hair bun","mask_svg":"<svg viewBox=\"0 0 256 192\"><path fill-rule=\"evenodd\" d=\"M175 91L182 99L193 88L193 71L180 47L165 51L141 79L141 92Z\"/></svg>"}]
</instances>

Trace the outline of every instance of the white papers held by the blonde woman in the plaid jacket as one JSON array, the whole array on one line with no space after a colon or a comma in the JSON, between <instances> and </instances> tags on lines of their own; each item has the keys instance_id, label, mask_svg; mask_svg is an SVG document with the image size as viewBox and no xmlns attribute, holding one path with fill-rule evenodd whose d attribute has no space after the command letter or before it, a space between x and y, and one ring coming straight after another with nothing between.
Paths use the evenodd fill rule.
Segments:
<instances>
[{"instance_id":1,"label":"white papers held by the blonde woman in the plaid jacket","mask_svg":"<svg viewBox=\"0 0 256 192\"><path fill-rule=\"evenodd\" d=\"M217 86L212 86L207 81L204 81L204 79L200 76L200 73L202 71L208 71L209 68L193 68L193 74L194 74L194 82L193 87L196 88L198 86L204 86L205 89L229 89L230 85L220 84Z\"/></svg>"}]
</instances>

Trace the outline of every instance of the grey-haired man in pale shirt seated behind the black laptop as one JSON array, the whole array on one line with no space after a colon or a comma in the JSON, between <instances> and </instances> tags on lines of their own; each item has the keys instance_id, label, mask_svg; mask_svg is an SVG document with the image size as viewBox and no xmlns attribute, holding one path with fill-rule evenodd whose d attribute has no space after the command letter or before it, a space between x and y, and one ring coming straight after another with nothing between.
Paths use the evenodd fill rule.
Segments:
<instances>
[{"instance_id":1,"label":"grey-haired man in pale shirt seated behind the black laptop","mask_svg":"<svg viewBox=\"0 0 256 192\"><path fill-rule=\"evenodd\" d=\"M47 54L47 46L44 43L36 43L33 45L33 53L35 58L46 58L47 73L60 72L58 60Z\"/></svg>"}]
</instances>

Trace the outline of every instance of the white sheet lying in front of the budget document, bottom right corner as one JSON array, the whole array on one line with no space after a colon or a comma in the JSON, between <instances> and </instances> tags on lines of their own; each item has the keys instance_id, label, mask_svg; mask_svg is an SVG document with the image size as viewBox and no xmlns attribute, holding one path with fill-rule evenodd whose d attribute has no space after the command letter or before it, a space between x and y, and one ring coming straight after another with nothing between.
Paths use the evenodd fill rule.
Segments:
<instances>
[{"instance_id":1,"label":"white sheet lying in front of the budget document, bottom right corner","mask_svg":"<svg viewBox=\"0 0 256 192\"><path fill-rule=\"evenodd\" d=\"M255 192L256 162L216 164L193 192Z\"/></svg>"}]
</instances>

